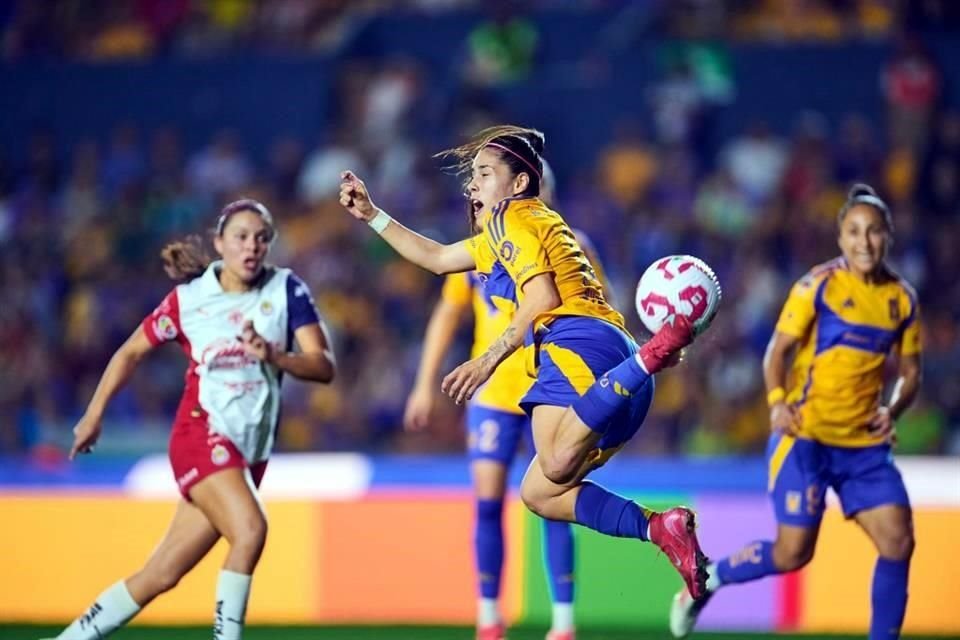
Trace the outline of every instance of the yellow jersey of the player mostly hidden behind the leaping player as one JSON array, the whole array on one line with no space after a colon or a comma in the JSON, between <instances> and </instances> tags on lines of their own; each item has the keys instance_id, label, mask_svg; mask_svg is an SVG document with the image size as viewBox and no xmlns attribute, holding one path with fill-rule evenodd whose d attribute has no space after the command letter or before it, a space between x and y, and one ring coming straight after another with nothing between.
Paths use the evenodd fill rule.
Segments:
<instances>
[{"instance_id":1,"label":"yellow jersey of the player mostly hidden behind the leaping player","mask_svg":"<svg viewBox=\"0 0 960 640\"><path fill-rule=\"evenodd\" d=\"M484 288L476 272L455 273L447 276L441 296L444 301L456 306L473 305L474 329L471 358L483 354L510 324L509 310L514 305L513 300L501 299L497 302L497 296ZM522 414L520 398L532 384L533 379L527 377L524 367L523 352L518 349L500 363L471 402L488 409Z\"/></svg>"}]
</instances>

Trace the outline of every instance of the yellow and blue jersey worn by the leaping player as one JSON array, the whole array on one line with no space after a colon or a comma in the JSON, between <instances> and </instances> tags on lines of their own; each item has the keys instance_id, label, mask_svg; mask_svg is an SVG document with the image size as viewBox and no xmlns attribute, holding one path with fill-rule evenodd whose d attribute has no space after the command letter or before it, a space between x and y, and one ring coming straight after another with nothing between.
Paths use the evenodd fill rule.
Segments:
<instances>
[{"instance_id":1,"label":"yellow and blue jersey worn by the leaping player","mask_svg":"<svg viewBox=\"0 0 960 640\"><path fill-rule=\"evenodd\" d=\"M515 309L523 285L551 273L562 304L535 318L534 327L558 317L585 316L626 330L573 231L539 198L507 198L483 217L481 227L466 245L495 304Z\"/></svg>"}]
</instances>

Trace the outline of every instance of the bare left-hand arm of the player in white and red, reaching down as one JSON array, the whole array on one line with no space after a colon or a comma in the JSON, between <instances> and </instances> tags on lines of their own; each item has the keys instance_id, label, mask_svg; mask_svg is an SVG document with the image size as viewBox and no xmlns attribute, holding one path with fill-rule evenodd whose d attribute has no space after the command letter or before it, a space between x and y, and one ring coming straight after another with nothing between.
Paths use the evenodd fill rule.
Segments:
<instances>
[{"instance_id":1,"label":"bare left-hand arm of the player in white and red, reaching down","mask_svg":"<svg viewBox=\"0 0 960 640\"><path fill-rule=\"evenodd\" d=\"M147 355L152 349L153 345L147 339L143 327L137 327L136 331L110 358L110 362L100 377L99 384L97 384L97 389L93 392L93 398L87 405L86 412L80 418L77 426L73 428L73 446L70 448L71 460L78 453L93 451L93 446L100 438L101 423L107 404L127 383L143 356Z\"/></svg>"}]
</instances>

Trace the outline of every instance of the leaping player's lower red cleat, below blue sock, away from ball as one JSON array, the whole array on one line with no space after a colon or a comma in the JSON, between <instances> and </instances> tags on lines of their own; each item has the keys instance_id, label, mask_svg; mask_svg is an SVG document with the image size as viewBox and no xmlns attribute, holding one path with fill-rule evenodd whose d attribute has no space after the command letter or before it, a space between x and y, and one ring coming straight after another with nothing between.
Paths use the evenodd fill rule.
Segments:
<instances>
[{"instance_id":1,"label":"leaping player's lower red cleat, below blue sock, away from ball","mask_svg":"<svg viewBox=\"0 0 960 640\"><path fill-rule=\"evenodd\" d=\"M707 556L697 542L696 516L674 507L650 516L650 542L660 547L676 567L694 600L707 593Z\"/></svg>"}]
</instances>

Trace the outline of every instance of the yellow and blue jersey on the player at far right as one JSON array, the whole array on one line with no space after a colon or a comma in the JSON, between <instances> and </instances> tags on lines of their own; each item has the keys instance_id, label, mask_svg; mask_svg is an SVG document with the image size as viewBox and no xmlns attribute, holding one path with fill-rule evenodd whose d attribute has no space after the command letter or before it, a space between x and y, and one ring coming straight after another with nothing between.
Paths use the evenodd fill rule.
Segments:
<instances>
[{"instance_id":1,"label":"yellow and blue jersey on the player at far right","mask_svg":"<svg viewBox=\"0 0 960 640\"><path fill-rule=\"evenodd\" d=\"M921 350L913 289L894 275L863 282L838 258L794 285L777 331L801 339L787 393L799 410L800 436L841 447L879 444L867 426L880 403L887 357Z\"/></svg>"}]
</instances>

